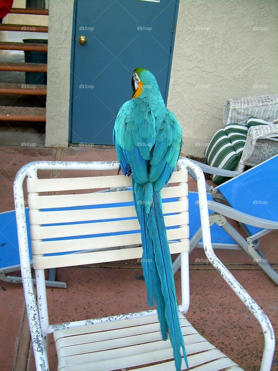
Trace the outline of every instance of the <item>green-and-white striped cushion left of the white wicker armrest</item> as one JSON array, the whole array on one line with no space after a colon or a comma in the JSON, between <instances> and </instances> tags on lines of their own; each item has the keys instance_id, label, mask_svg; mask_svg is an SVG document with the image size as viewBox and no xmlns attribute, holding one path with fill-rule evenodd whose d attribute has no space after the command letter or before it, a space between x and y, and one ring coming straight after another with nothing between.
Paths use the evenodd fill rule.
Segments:
<instances>
[{"instance_id":1,"label":"green-and-white striped cushion left of the white wicker armrest","mask_svg":"<svg viewBox=\"0 0 278 371\"><path fill-rule=\"evenodd\" d=\"M243 125L229 124L219 129L205 150L209 165L225 170L236 170L245 145L248 128ZM227 178L214 175L215 184L223 183Z\"/></svg>"}]
</instances>

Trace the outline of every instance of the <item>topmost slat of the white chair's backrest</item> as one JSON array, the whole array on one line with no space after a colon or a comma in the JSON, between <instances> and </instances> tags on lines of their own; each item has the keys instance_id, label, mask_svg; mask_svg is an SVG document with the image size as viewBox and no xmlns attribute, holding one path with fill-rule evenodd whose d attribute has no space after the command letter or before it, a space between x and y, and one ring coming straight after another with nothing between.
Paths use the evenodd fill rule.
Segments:
<instances>
[{"instance_id":1,"label":"topmost slat of the white chair's backrest","mask_svg":"<svg viewBox=\"0 0 278 371\"><path fill-rule=\"evenodd\" d=\"M168 183L181 182L187 182L187 171L175 171ZM131 186L132 177L125 177L124 175L53 179L27 178L27 191L29 193Z\"/></svg>"}]
</instances>

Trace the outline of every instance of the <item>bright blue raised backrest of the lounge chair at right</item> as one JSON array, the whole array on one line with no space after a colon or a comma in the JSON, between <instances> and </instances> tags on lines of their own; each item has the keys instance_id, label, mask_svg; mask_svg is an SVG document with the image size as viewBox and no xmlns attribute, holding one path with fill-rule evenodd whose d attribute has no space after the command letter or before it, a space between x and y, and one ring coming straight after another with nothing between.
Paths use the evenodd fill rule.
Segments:
<instances>
[{"instance_id":1,"label":"bright blue raised backrest of the lounge chair at right","mask_svg":"<svg viewBox=\"0 0 278 371\"><path fill-rule=\"evenodd\" d=\"M251 216L278 222L278 155L215 187L231 206ZM254 234L261 229L248 226Z\"/></svg>"}]
</instances>

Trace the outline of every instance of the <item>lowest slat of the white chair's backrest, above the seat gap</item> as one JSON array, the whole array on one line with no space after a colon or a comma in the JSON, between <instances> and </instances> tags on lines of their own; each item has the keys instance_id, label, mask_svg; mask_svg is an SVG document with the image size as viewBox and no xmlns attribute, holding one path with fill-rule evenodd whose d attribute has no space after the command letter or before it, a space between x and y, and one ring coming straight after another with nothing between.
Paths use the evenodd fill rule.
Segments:
<instances>
[{"instance_id":1,"label":"lowest slat of the white chair's backrest, above the seat gap","mask_svg":"<svg viewBox=\"0 0 278 371\"><path fill-rule=\"evenodd\" d=\"M189 241L170 244L171 254L189 251ZM132 249L97 251L84 254L67 254L56 256L33 255L34 269L69 267L83 264L116 262L118 260L139 259L142 257L142 247Z\"/></svg>"}]
</instances>

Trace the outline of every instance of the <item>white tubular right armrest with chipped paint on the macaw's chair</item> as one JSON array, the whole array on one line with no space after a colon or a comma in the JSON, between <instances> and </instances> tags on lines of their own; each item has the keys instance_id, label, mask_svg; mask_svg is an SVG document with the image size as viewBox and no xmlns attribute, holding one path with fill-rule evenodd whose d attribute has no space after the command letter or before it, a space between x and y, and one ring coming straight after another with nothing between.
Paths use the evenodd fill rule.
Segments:
<instances>
[{"instance_id":1,"label":"white tubular right armrest with chipped paint on the macaw's chair","mask_svg":"<svg viewBox=\"0 0 278 371\"><path fill-rule=\"evenodd\" d=\"M199 196L199 207L201 215L201 227L203 247L208 260L219 272L222 278L228 283L235 294L241 299L242 303L249 309L249 311L257 318L261 325L264 334L265 346L262 355L261 371L270 371L272 358L275 348L274 331L267 315L262 311L258 304L251 298L241 284L235 279L231 272L224 266L224 264L215 255L211 244L211 233L209 226L208 203L206 198L205 177L201 168L194 162L188 159L181 159L178 162L180 168L190 168L196 174Z\"/></svg>"}]
</instances>

